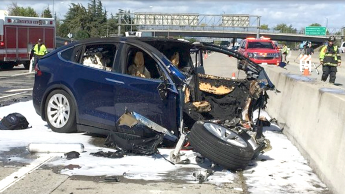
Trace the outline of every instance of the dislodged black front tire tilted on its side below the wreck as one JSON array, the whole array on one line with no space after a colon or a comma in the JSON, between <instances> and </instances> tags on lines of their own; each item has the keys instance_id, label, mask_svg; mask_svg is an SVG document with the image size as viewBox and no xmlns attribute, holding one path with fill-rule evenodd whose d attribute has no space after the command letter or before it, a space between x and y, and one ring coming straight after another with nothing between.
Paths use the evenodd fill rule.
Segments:
<instances>
[{"instance_id":1,"label":"dislodged black front tire tilted on its side below the wreck","mask_svg":"<svg viewBox=\"0 0 345 194\"><path fill-rule=\"evenodd\" d=\"M222 140L219 135L210 132L212 130L207 129L206 125L220 126L210 122L196 122L189 133L189 141L193 149L228 170L245 169L254 155L248 141L235 131L220 126L226 129L226 134L237 138L237 140Z\"/></svg>"}]
</instances>

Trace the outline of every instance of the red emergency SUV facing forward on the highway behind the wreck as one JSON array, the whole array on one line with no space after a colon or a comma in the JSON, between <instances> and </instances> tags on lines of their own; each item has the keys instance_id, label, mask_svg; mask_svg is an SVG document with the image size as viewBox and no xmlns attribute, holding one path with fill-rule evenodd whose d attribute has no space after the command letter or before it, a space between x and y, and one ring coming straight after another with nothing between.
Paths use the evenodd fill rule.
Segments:
<instances>
[{"instance_id":1,"label":"red emergency SUV facing forward on the highway behind the wreck","mask_svg":"<svg viewBox=\"0 0 345 194\"><path fill-rule=\"evenodd\" d=\"M238 52L257 64L279 65L280 51L269 38L246 38L241 41Z\"/></svg>"}]
</instances>

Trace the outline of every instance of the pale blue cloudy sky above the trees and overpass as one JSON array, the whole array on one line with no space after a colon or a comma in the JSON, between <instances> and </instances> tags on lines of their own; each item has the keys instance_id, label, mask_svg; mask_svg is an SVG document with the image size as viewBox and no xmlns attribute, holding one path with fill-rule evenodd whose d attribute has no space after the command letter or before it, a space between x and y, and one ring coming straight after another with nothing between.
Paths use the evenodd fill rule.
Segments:
<instances>
[{"instance_id":1,"label":"pale blue cloudy sky above the trees and overpass","mask_svg":"<svg viewBox=\"0 0 345 194\"><path fill-rule=\"evenodd\" d=\"M68 11L71 3L80 3L87 6L88 0L79 1L59 1L59 0L2 0L0 10L7 10L12 2L18 6L31 6L37 13L49 6L57 17L63 18ZM198 13L198 14L249 14L261 16L261 24L268 24L273 28L279 23L292 24L297 30L301 30L311 23L320 23L329 28L340 28L345 26L343 20L343 10L345 3L343 1L285 1L285 0L227 0L227 1L120 1L103 0L102 4L109 13L116 14L119 9L130 10L131 12L154 12L154 13ZM150 6L152 6L150 8ZM110 15L110 14L109 14Z\"/></svg>"}]
</instances>

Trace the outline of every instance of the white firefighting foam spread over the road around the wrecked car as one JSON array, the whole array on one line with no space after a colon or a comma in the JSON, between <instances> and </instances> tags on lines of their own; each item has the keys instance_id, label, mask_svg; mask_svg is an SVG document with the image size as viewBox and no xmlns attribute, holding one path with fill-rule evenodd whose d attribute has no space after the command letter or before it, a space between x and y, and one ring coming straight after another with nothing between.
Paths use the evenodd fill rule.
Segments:
<instances>
[{"instance_id":1,"label":"white firefighting foam spread over the road around the wrecked car","mask_svg":"<svg viewBox=\"0 0 345 194\"><path fill-rule=\"evenodd\" d=\"M55 133L49 129L46 122L35 113L32 101L19 102L9 106L0 107L2 115L18 112L22 114L30 123L32 128L24 130L0 130L0 162L8 165L6 162L34 163L30 153L25 147L30 143L82 143L84 152L80 153L80 157L67 160L63 154L39 154L37 160L53 157L50 162L46 163L50 166L63 165L67 166L71 163L79 165L80 168L72 170L63 169L61 174L65 175L84 175L84 176L121 176L126 173L127 179L141 179L147 181L167 181L178 179L186 183L197 183L191 176L192 172L205 171L211 163L206 160L205 163L198 165L195 158L191 158L190 164L172 165L160 156L126 156L123 158L99 158L90 155L92 152L98 151L114 151L109 148L98 147L91 144L92 137L84 135L84 133ZM257 118L257 112L253 117ZM271 120L270 116L262 112L261 116L265 116ZM264 128L265 137L270 140L272 150L251 160L248 167L243 171L245 184L250 193L330 193L327 186L321 182L317 175L308 165L308 161L300 154L298 149L286 138L281 129L272 124L271 127ZM18 154L7 152L11 149L22 149L22 153ZM159 149L160 153L169 158L172 149ZM185 152L185 151L182 151ZM187 155L192 151L187 151ZM11 152L10 152L11 153ZM26 156L26 157L25 157ZM57 157L54 157L57 156ZM233 183L242 179L236 173L215 169L213 175L208 177L205 184L215 184L218 188L231 189L225 183ZM10 175L11 176L11 175ZM12 178L12 177L11 177ZM1 188L0 188L1 189ZM241 189L241 188L234 188ZM215 190L216 192L216 190Z\"/></svg>"}]
</instances>

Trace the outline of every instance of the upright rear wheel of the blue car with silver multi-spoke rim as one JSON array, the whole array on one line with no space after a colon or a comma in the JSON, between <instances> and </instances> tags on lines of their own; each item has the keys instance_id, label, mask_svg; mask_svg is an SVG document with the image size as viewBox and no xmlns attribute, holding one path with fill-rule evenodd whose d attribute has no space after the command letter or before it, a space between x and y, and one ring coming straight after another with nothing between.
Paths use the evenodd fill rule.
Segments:
<instances>
[{"instance_id":1,"label":"upright rear wheel of the blue car with silver multi-spoke rim","mask_svg":"<svg viewBox=\"0 0 345 194\"><path fill-rule=\"evenodd\" d=\"M66 91L52 91L44 105L45 119L51 130L58 133L76 132L75 107L71 96Z\"/></svg>"}]
</instances>

